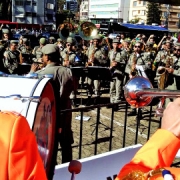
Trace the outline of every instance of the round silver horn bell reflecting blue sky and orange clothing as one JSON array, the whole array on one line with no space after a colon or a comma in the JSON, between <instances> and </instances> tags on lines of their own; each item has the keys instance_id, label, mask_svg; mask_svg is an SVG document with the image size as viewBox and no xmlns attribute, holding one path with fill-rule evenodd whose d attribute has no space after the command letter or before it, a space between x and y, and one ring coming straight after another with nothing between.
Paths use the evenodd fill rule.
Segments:
<instances>
[{"instance_id":1,"label":"round silver horn bell reflecting blue sky and orange clothing","mask_svg":"<svg viewBox=\"0 0 180 180\"><path fill-rule=\"evenodd\" d=\"M148 79L142 76L136 76L130 79L124 86L124 97L131 106L136 108L143 107L151 103L153 97L138 96L137 92L142 91L143 89L151 88L153 88L153 86Z\"/></svg>"}]
</instances>

